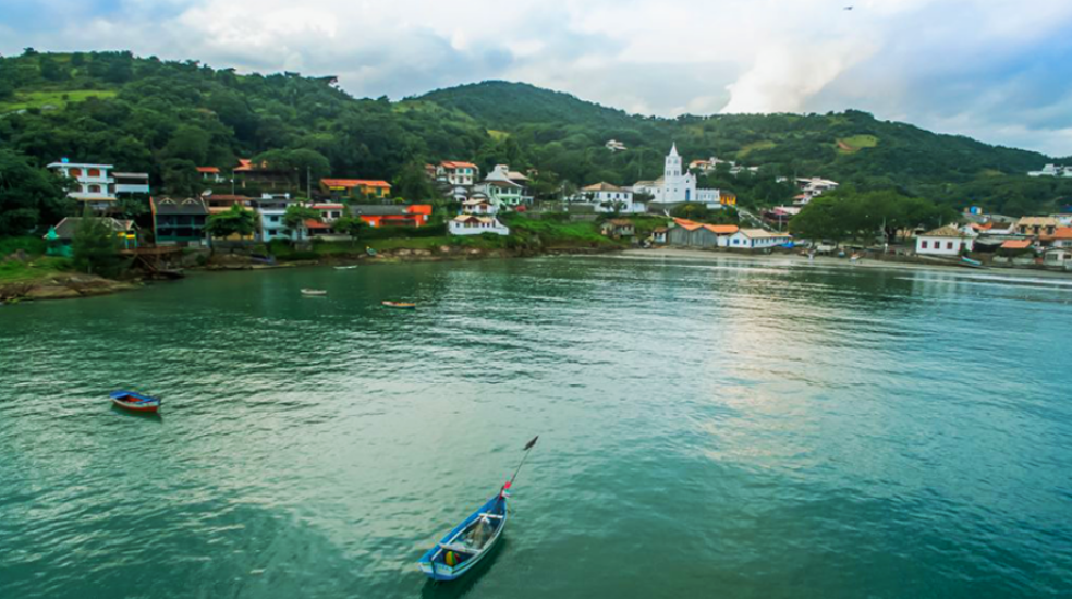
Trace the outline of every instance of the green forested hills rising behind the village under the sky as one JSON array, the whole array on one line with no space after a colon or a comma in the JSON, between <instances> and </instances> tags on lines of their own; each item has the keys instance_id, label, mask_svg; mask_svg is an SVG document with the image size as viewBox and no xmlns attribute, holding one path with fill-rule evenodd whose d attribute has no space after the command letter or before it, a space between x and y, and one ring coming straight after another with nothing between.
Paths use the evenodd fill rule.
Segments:
<instances>
[{"instance_id":1,"label":"green forested hills rising behind the village under the sky","mask_svg":"<svg viewBox=\"0 0 1072 599\"><path fill-rule=\"evenodd\" d=\"M630 150L611 154L604 147L611 138ZM170 193L191 192L196 166L228 169L239 157L284 150L269 156L307 163L315 175L395 181L425 161L509 162L537 169L537 191L549 194L562 182L655 179L673 142L687 160L716 155L762 167L754 178L720 173L705 182L746 203L787 199L791 191L772 183L778 175L894 187L1013 215L1072 196L1072 181L1025 176L1052 161L1040 154L851 110L659 119L504 82L391 102L355 99L330 77L240 75L130 52L0 59L0 159L109 162L148 171ZM304 151L288 156L294 150Z\"/></svg>"}]
</instances>

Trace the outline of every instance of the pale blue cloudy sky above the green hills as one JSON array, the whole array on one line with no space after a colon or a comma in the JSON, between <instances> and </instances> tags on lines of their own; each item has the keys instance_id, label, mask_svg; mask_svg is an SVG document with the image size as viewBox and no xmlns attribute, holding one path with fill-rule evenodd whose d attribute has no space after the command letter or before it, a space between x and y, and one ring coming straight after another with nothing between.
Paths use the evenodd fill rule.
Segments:
<instances>
[{"instance_id":1,"label":"pale blue cloudy sky above the green hills","mask_svg":"<svg viewBox=\"0 0 1072 599\"><path fill-rule=\"evenodd\" d=\"M0 0L0 53L25 47L358 97L507 80L661 117L853 108L1072 156L1072 0Z\"/></svg>"}]
</instances>

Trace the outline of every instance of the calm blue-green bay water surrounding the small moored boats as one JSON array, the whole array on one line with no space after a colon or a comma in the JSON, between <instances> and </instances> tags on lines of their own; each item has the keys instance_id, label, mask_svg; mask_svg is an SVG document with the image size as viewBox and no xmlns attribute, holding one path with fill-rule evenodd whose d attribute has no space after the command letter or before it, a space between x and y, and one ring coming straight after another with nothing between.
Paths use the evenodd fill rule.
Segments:
<instances>
[{"instance_id":1,"label":"calm blue-green bay water surrounding the small moored boats","mask_svg":"<svg viewBox=\"0 0 1072 599\"><path fill-rule=\"evenodd\" d=\"M0 307L0 597L1072 596L1072 280L795 260ZM426 583L536 433L490 563Z\"/></svg>"}]
</instances>

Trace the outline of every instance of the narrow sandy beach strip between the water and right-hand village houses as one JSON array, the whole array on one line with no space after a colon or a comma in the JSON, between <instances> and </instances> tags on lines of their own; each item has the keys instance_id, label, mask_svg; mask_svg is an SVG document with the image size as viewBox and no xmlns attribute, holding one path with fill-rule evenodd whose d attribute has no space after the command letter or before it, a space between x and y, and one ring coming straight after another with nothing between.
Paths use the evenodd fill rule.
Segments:
<instances>
[{"instance_id":1,"label":"narrow sandy beach strip between the water and right-hand village houses","mask_svg":"<svg viewBox=\"0 0 1072 599\"><path fill-rule=\"evenodd\" d=\"M653 249L636 249L630 248L619 253L619 256L625 258L645 258L645 259L660 259L660 258L675 258L675 259L686 259L706 262L718 262L723 260L751 260L756 262L779 262L785 264L790 262L793 266L821 266L831 268L846 268L846 269L887 269L887 270L907 270L907 271L936 271L936 272L961 272L961 273L976 273L976 274L987 274L1004 277L1009 279L1021 279L1021 278L1033 278L1043 277L1051 279L1067 279L1072 280L1072 272L1062 272L1059 270L1044 270L1036 268L985 268L985 269L974 269L969 267L963 267L957 264L918 264L918 262L900 262L900 261L886 261L876 260L873 258L863 258L856 264L852 264L848 258L835 258L830 256L816 256L814 260L808 260L803 256L796 254L746 254L746 253L735 253L735 252L710 252L704 249L683 249L683 248L672 248L672 247L661 247Z\"/></svg>"}]
</instances>

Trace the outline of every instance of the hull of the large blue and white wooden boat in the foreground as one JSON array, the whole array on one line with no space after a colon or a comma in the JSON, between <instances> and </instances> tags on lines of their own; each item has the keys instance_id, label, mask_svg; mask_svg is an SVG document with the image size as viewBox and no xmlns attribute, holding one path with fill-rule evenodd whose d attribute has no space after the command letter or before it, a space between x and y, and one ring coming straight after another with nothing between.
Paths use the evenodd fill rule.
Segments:
<instances>
[{"instance_id":1,"label":"hull of the large blue and white wooden boat in the foreground","mask_svg":"<svg viewBox=\"0 0 1072 599\"><path fill-rule=\"evenodd\" d=\"M454 580L490 553L507 527L507 492L499 491L429 549L417 565L433 580Z\"/></svg>"}]
</instances>

